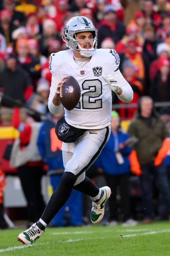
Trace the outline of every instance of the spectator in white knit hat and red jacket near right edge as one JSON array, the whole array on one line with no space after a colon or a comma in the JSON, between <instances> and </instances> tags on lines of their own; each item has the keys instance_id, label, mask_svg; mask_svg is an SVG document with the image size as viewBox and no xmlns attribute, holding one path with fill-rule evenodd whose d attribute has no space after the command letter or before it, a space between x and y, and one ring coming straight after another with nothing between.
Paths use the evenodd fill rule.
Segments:
<instances>
[{"instance_id":1,"label":"spectator in white knit hat and red jacket near right edge","mask_svg":"<svg viewBox=\"0 0 170 256\"><path fill-rule=\"evenodd\" d=\"M149 78L151 81L155 77L156 72L159 70L159 66L158 66L159 57L169 58L170 56L168 45L166 43L160 43L156 48L156 54L157 54L157 59L152 61L149 67Z\"/></svg>"}]
</instances>

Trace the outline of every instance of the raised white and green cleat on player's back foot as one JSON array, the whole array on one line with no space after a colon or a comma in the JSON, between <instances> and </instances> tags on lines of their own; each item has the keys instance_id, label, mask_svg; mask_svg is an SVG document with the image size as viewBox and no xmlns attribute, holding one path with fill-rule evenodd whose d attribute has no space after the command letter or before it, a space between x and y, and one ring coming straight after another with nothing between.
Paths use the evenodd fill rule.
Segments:
<instances>
[{"instance_id":1,"label":"raised white and green cleat on player's back foot","mask_svg":"<svg viewBox=\"0 0 170 256\"><path fill-rule=\"evenodd\" d=\"M91 211L91 221L94 224L99 223L104 216L105 203L111 195L111 190L109 187L101 187L101 196L97 201L92 202L92 211Z\"/></svg>"}]
</instances>

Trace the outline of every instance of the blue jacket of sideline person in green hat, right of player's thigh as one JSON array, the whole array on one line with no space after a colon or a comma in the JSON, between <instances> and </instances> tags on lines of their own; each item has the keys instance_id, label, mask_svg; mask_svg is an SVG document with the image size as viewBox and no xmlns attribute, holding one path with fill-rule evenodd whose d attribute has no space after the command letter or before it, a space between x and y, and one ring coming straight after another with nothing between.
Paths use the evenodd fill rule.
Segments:
<instances>
[{"instance_id":1,"label":"blue jacket of sideline person in green hat, right of player's thigh","mask_svg":"<svg viewBox=\"0 0 170 256\"><path fill-rule=\"evenodd\" d=\"M129 138L129 135L118 131L117 132L117 146L118 144L124 142L126 139ZM105 173L111 175L121 175L124 173L130 172L129 169L129 159L128 155L131 153L131 149L129 147L125 147L120 150L120 153L123 156L124 163L118 164L116 157L115 157L115 136L111 132L110 138L103 148L100 156L95 161L95 165L101 167Z\"/></svg>"}]
</instances>

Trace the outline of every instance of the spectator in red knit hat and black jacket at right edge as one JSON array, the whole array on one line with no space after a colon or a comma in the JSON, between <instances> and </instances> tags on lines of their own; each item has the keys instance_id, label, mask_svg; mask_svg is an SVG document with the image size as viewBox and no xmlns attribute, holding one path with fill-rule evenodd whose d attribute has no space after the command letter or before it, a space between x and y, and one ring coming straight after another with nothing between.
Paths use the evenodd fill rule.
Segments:
<instances>
[{"instance_id":1,"label":"spectator in red knit hat and black jacket at right edge","mask_svg":"<svg viewBox=\"0 0 170 256\"><path fill-rule=\"evenodd\" d=\"M166 57L158 59L158 71L151 82L150 95L154 101L170 99L170 61Z\"/></svg>"}]
</instances>

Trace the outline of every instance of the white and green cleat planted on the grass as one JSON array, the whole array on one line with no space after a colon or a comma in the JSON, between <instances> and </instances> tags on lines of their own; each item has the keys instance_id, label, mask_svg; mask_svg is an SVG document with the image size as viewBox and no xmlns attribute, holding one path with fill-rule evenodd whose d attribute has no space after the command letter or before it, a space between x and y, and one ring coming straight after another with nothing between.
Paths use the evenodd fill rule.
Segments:
<instances>
[{"instance_id":1,"label":"white and green cleat planted on the grass","mask_svg":"<svg viewBox=\"0 0 170 256\"><path fill-rule=\"evenodd\" d=\"M34 223L29 229L18 235L18 241L23 244L33 244L40 236L45 232L41 230L36 223Z\"/></svg>"}]
</instances>

